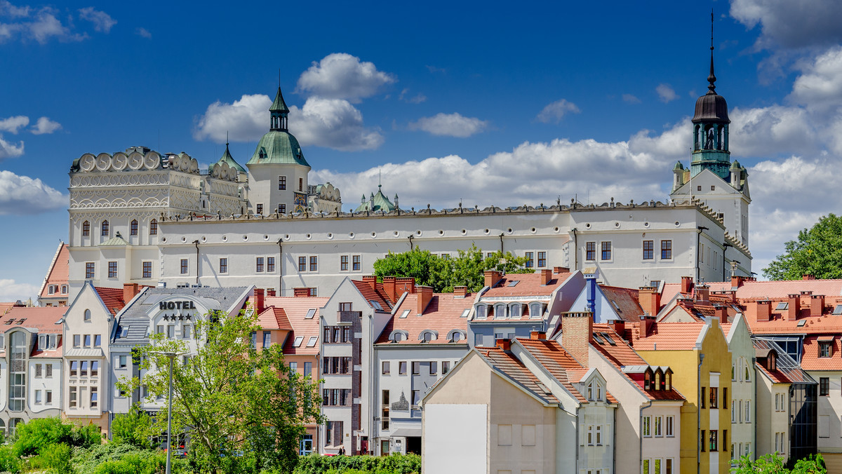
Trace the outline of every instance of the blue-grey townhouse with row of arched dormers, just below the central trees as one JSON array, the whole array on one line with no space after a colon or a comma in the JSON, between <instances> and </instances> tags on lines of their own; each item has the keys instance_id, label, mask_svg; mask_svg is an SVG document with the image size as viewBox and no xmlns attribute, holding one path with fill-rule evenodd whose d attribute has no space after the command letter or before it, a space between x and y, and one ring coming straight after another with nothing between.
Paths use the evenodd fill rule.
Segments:
<instances>
[{"instance_id":1,"label":"blue-grey townhouse with row of arched dormers, just below the central trees","mask_svg":"<svg viewBox=\"0 0 842 474\"><path fill-rule=\"evenodd\" d=\"M532 331L553 333L584 288L581 271L564 267L533 274L489 270L485 286L468 314L468 344L491 346L497 339L528 337Z\"/></svg>"}]
</instances>

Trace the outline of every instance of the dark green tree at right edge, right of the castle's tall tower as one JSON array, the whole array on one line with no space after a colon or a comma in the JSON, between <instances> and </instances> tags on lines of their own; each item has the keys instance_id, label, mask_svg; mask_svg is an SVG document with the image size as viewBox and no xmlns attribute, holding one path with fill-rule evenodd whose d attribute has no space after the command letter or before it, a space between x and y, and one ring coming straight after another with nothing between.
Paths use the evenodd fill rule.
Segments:
<instances>
[{"instance_id":1,"label":"dark green tree at right edge, right of the castle's tall tower","mask_svg":"<svg viewBox=\"0 0 842 474\"><path fill-rule=\"evenodd\" d=\"M784 244L786 252L763 269L770 280L801 280L803 274L816 278L842 278L842 216L822 216L810 229L798 232L797 240Z\"/></svg>"}]
</instances>

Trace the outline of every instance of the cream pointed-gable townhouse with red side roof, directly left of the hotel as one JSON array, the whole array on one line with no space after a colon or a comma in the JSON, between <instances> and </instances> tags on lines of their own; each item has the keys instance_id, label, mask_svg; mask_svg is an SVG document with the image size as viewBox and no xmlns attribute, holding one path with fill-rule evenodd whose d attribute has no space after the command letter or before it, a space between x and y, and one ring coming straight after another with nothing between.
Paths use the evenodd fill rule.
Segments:
<instances>
[{"instance_id":1,"label":"cream pointed-gable townhouse with red side roof, directly left of the hotel","mask_svg":"<svg viewBox=\"0 0 842 474\"><path fill-rule=\"evenodd\" d=\"M134 298L137 285L98 288L86 281L62 318L61 411L73 423L93 423L109 436L109 343L115 315Z\"/></svg>"}]
</instances>

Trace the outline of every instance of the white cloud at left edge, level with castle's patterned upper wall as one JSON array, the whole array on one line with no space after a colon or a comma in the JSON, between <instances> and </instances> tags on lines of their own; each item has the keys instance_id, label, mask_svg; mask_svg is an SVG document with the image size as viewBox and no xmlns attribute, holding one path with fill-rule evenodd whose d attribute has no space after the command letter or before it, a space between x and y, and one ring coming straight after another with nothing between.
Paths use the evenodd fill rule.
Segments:
<instances>
[{"instance_id":1,"label":"white cloud at left edge, level with castle's patterned upper wall","mask_svg":"<svg viewBox=\"0 0 842 474\"><path fill-rule=\"evenodd\" d=\"M64 209L70 198L40 179L0 171L0 216L37 214Z\"/></svg>"}]
</instances>

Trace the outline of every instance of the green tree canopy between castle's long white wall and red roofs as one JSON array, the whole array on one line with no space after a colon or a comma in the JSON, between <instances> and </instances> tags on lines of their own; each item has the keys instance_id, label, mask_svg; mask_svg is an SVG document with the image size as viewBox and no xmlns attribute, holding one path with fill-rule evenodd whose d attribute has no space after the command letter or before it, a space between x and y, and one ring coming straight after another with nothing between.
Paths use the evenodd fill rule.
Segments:
<instances>
[{"instance_id":1,"label":"green tree canopy between castle's long white wall and red roofs","mask_svg":"<svg viewBox=\"0 0 842 474\"><path fill-rule=\"evenodd\" d=\"M482 254L482 249L472 244L467 250L458 250L456 258L443 258L418 247L408 252L392 253L374 263L378 277L413 277L418 285L432 286L436 293L453 291L454 286L467 286L469 291L482 289L483 273L498 270L505 274L532 273L526 268L525 257L500 251Z\"/></svg>"}]
</instances>

